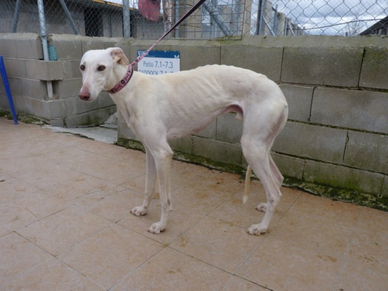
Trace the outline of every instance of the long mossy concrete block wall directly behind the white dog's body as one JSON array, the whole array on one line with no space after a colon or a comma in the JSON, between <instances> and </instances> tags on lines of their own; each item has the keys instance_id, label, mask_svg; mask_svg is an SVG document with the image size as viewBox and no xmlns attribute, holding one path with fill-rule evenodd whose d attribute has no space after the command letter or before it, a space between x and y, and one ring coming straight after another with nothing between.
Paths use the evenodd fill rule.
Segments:
<instances>
[{"instance_id":1,"label":"long mossy concrete block wall directly behind the white dog's body","mask_svg":"<svg viewBox=\"0 0 388 291\"><path fill-rule=\"evenodd\" d=\"M130 59L152 41L131 41ZM120 45L120 44L119 44ZM316 194L388 209L388 38L244 37L162 41L179 50L181 70L235 65L277 82L290 107L272 156L286 183ZM119 117L119 140L136 140ZM170 141L178 158L239 171L246 167L235 114ZM129 143L133 146L133 143Z\"/></svg>"}]
</instances>

